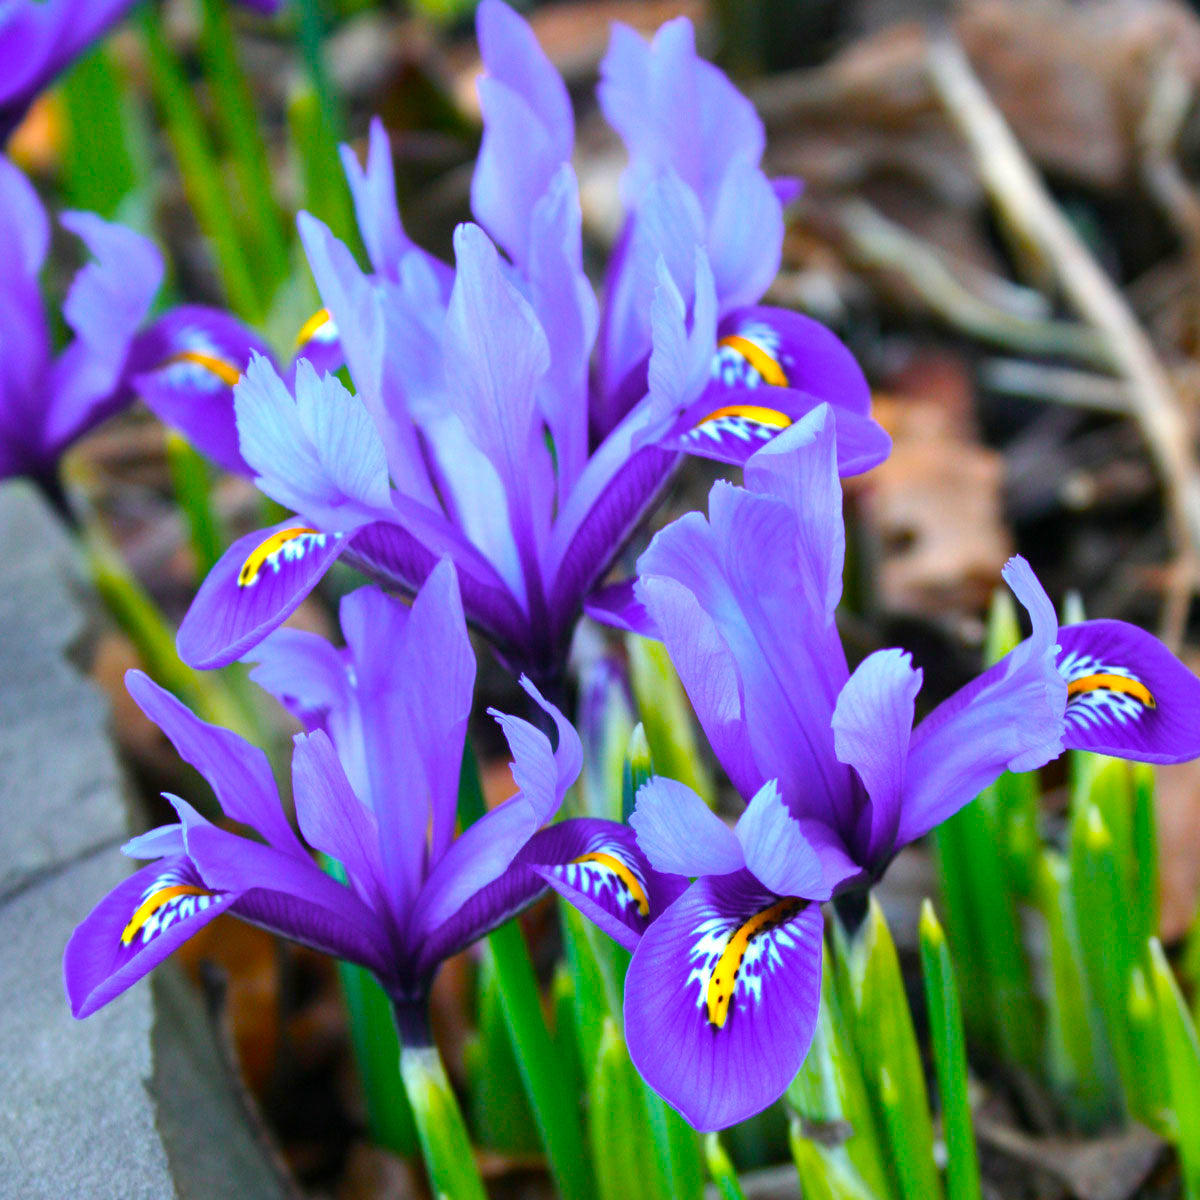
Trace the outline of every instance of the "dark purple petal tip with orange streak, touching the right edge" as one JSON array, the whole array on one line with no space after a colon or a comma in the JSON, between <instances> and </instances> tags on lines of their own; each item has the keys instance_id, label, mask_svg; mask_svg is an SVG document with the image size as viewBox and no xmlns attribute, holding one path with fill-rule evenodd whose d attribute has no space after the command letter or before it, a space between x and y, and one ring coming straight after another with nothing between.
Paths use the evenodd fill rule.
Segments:
<instances>
[{"instance_id":1,"label":"dark purple petal tip with orange streak, touching the right edge","mask_svg":"<svg viewBox=\"0 0 1200 1200\"><path fill-rule=\"evenodd\" d=\"M1072 750L1184 762L1200 756L1200 679L1157 638L1123 620L1058 630Z\"/></svg>"}]
</instances>

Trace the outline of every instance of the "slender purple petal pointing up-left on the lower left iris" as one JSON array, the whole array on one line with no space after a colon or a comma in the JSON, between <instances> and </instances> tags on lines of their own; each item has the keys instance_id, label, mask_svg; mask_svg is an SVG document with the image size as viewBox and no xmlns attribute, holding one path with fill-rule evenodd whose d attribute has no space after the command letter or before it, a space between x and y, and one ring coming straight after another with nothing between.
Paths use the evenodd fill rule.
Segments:
<instances>
[{"instance_id":1,"label":"slender purple petal pointing up-left on the lower left iris","mask_svg":"<svg viewBox=\"0 0 1200 1200\"><path fill-rule=\"evenodd\" d=\"M127 671L125 686L179 756L209 782L227 817L256 829L281 851L304 853L283 815L271 764L258 746L232 730L202 721L144 671Z\"/></svg>"}]
</instances>

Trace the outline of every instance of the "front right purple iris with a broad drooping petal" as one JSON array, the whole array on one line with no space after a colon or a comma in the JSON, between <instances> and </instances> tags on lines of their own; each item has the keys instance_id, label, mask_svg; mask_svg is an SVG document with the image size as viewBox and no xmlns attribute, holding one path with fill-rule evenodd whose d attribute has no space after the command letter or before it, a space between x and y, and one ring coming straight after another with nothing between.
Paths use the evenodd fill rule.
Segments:
<instances>
[{"instance_id":1,"label":"front right purple iris with a broad drooping petal","mask_svg":"<svg viewBox=\"0 0 1200 1200\"><path fill-rule=\"evenodd\" d=\"M922 673L880 650L851 673L834 622L844 532L830 414L719 482L638 560L637 624L670 650L749 800L734 830L653 779L631 823L658 870L695 882L646 932L625 985L630 1055L701 1129L775 1100L808 1051L820 902L869 887L896 851L1003 770L1064 748L1148 762L1200 755L1200 680L1115 620L1060 629L1028 564L1004 578L1032 634L913 728Z\"/></svg>"}]
</instances>

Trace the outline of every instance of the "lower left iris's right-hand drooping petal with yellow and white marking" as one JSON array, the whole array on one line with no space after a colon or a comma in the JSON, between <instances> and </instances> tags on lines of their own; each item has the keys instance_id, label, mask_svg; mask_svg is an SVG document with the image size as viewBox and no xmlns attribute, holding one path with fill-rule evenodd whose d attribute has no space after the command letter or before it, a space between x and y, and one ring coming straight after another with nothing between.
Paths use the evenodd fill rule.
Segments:
<instances>
[{"instance_id":1,"label":"lower left iris's right-hand drooping petal with yellow and white marking","mask_svg":"<svg viewBox=\"0 0 1200 1200\"><path fill-rule=\"evenodd\" d=\"M542 829L516 863L545 880L626 950L688 887L683 876L654 870L631 830L595 817Z\"/></svg>"}]
</instances>

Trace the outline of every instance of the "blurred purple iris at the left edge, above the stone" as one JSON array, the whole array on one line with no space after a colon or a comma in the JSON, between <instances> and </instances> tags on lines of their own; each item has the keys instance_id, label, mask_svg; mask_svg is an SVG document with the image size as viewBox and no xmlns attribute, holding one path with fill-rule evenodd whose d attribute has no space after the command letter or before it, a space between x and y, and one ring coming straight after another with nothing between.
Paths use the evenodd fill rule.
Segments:
<instances>
[{"instance_id":1,"label":"blurred purple iris at the left edge, above the stone","mask_svg":"<svg viewBox=\"0 0 1200 1200\"><path fill-rule=\"evenodd\" d=\"M62 316L74 338L54 355L38 287L49 221L29 180L0 157L0 479L31 475L53 490L64 450L136 392L218 462L240 463L230 384L259 340L198 306L146 325L162 280L155 246L91 212L61 223L95 262L71 286Z\"/></svg>"}]
</instances>

